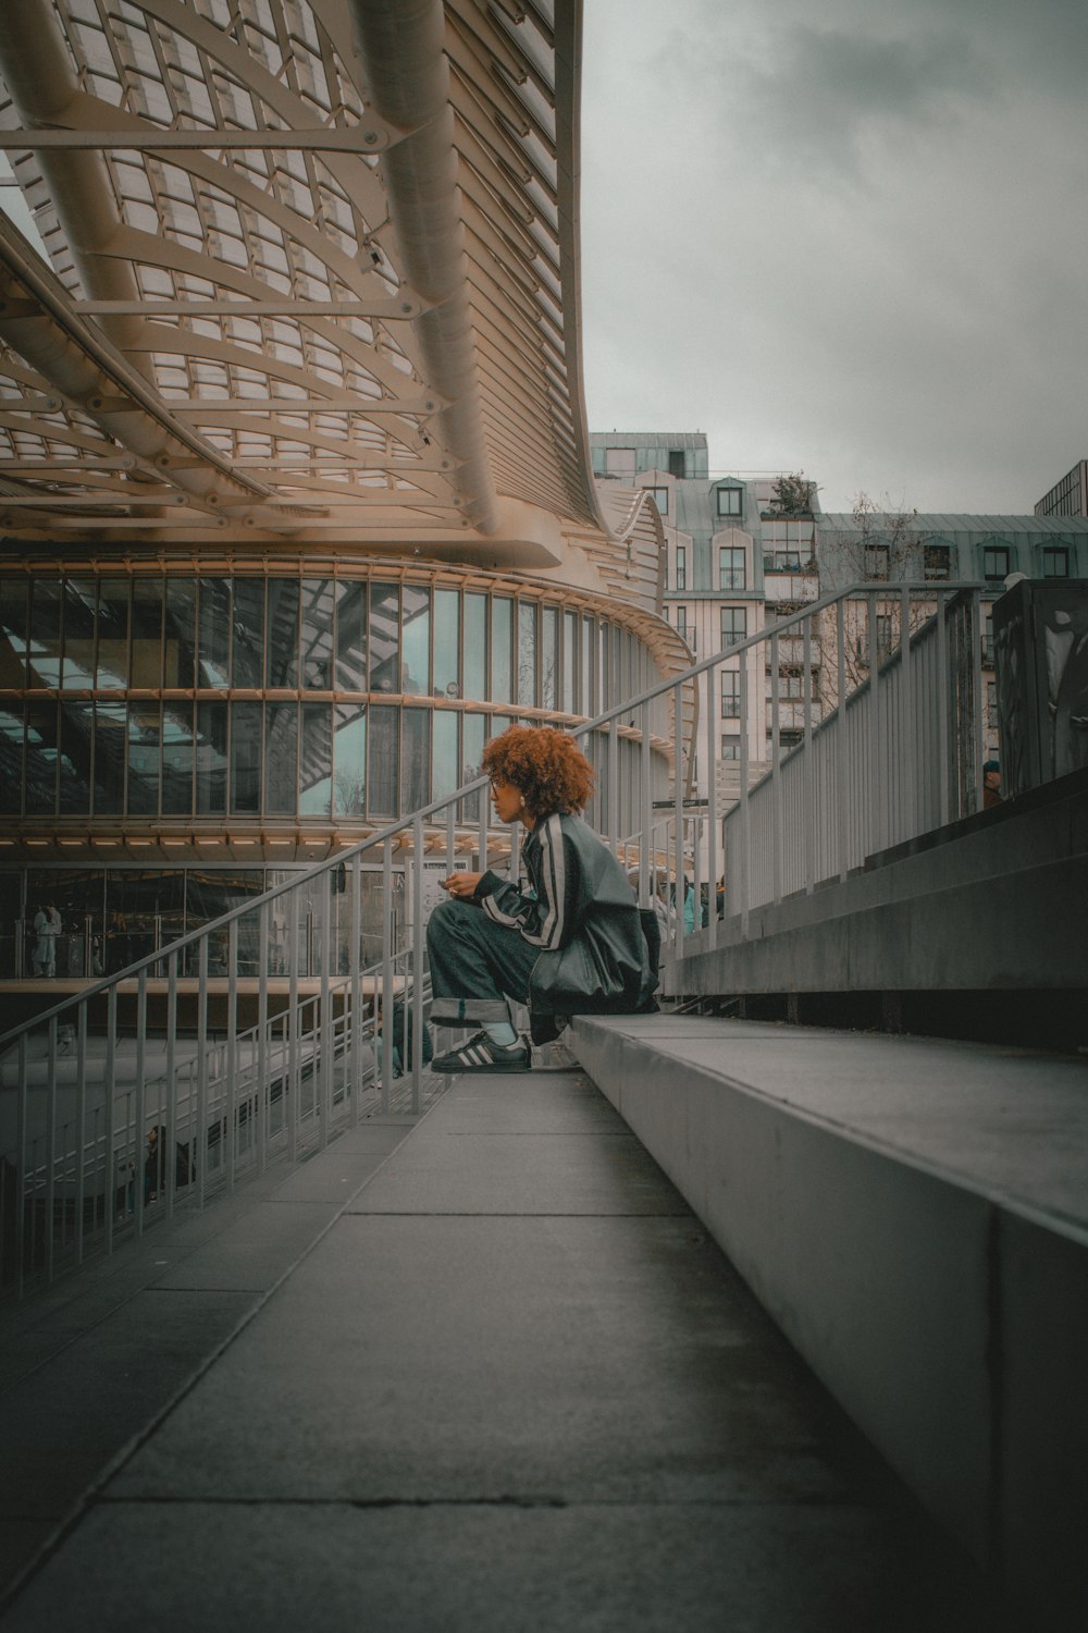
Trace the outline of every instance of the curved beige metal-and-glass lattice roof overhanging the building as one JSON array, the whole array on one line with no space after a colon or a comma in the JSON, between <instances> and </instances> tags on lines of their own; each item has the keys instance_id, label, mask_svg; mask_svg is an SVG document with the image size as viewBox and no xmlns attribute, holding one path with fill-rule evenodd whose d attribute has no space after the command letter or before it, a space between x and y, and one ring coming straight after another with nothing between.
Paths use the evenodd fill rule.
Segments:
<instances>
[{"instance_id":1,"label":"curved beige metal-and-glass lattice roof overhanging the building","mask_svg":"<svg viewBox=\"0 0 1088 1633\"><path fill-rule=\"evenodd\" d=\"M577 8L419 10L7 0L8 536L463 554L525 505L605 536Z\"/></svg>"}]
</instances>

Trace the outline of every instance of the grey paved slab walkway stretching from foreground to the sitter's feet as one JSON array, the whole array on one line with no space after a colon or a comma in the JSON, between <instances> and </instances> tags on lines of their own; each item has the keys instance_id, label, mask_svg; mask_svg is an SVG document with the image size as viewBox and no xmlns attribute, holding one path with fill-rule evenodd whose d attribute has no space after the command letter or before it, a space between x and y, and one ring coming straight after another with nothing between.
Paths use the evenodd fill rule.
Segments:
<instances>
[{"instance_id":1,"label":"grey paved slab walkway stretching from foreground to the sitter's feet","mask_svg":"<svg viewBox=\"0 0 1088 1633\"><path fill-rule=\"evenodd\" d=\"M8 1515L82 1497L5 1633L993 1633L582 1073L403 1135L148 1238L11 1378Z\"/></svg>"}]
</instances>

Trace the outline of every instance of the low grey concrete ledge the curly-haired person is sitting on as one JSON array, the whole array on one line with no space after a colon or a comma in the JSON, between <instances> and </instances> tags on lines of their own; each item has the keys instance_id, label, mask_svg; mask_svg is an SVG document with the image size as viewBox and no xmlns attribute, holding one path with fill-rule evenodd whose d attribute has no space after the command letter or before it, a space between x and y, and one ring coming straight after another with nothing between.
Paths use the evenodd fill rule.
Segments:
<instances>
[{"instance_id":1,"label":"low grey concrete ledge the curly-haired person is sitting on","mask_svg":"<svg viewBox=\"0 0 1088 1633\"><path fill-rule=\"evenodd\" d=\"M582 1017L571 1047L1033 1630L1086 1625L1083 1065L666 1016Z\"/></svg>"}]
</instances>

